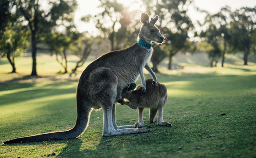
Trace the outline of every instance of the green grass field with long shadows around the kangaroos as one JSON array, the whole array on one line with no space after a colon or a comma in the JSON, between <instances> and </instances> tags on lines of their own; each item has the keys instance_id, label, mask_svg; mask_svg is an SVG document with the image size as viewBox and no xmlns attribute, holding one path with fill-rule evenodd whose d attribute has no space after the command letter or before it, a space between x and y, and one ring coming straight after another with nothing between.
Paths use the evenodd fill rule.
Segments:
<instances>
[{"instance_id":1,"label":"green grass field with long shadows around the kangaroos","mask_svg":"<svg viewBox=\"0 0 256 158\"><path fill-rule=\"evenodd\" d=\"M30 57L17 58L18 74L9 74L9 63L0 60L0 142L67 130L76 121L81 72L71 78L57 74L61 68L53 57L39 59L38 78L27 76ZM102 137L102 111L93 111L78 138L2 145L0 158L256 158L256 64L249 64L187 64L172 71L160 67L156 75L168 92L163 116L173 127L149 124L144 110L151 133ZM118 125L137 120L137 110L117 105Z\"/></svg>"}]
</instances>

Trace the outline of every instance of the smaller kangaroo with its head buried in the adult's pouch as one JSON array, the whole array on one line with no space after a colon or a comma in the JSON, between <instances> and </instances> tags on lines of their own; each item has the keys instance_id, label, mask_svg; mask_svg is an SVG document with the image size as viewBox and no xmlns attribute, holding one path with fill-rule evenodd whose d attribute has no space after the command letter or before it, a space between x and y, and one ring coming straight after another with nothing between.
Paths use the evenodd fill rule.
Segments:
<instances>
[{"instance_id":1,"label":"smaller kangaroo with its head buried in the adult's pouch","mask_svg":"<svg viewBox=\"0 0 256 158\"><path fill-rule=\"evenodd\" d=\"M144 125L143 122L143 109L150 108L149 110L149 122L154 123L157 120L158 125L164 125L171 127L172 124L164 122L163 119L163 108L167 102L167 91L164 84L157 82L155 88L151 85L153 84L153 79L146 80L146 93L141 92L141 85L137 87L136 90L133 90L136 87L135 83L130 84L122 92L122 98L126 98L129 102L125 102L123 99L118 102L121 104L126 104L132 109L138 107L139 111L139 121L135 124L134 127L137 128L148 128L150 126ZM158 112L158 118L155 117Z\"/></svg>"}]
</instances>

